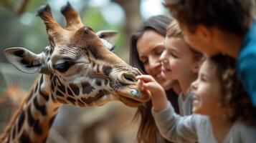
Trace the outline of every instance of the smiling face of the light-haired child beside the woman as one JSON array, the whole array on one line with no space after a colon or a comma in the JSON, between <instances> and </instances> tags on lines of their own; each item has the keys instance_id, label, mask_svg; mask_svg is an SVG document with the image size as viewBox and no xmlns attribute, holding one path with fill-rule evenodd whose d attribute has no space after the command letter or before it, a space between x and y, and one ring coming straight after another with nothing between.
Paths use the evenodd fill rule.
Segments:
<instances>
[{"instance_id":1,"label":"smiling face of the light-haired child beside the woman","mask_svg":"<svg viewBox=\"0 0 256 143\"><path fill-rule=\"evenodd\" d=\"M166 79L186 79L192 75L194 60L184 39L166 38L166 49L161 54L161 74Z\"/></svg>"}]
</instances>

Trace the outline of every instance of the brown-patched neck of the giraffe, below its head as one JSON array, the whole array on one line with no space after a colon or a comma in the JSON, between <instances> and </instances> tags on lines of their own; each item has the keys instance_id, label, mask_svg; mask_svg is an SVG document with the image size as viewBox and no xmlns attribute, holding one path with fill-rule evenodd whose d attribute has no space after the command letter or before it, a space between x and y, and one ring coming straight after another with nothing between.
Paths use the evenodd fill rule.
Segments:
<instances>
[{"instance_id":1,"label":"brown-patched neck of the giraffe, below its head","mask_svg":"<svg viewBox=\"0 0 256 143\"><path fill-rule=\"evenodd\" d=\"M49 129L62 104L52 101L47 75L39 76L8 135L9 142L46 142Z\"/></svg>"}]
</instances>

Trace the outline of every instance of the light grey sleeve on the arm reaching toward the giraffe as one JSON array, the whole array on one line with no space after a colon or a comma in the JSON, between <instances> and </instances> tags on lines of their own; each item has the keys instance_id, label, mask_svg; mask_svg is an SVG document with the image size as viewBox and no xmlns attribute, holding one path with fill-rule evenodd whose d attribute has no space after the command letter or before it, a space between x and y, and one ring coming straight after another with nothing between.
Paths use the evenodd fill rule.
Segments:
<instances>
[{"instance_id":1,"label":"light grey sleeve on the arm reaching toward the giraffe","mask_svg":"<svg viewBox=\"0 0 256 143\"><path fill-rule=\"evenodd\" d=\"M156 126L161 135L171 142L196 142L196 124L202 123L203 117L200 115L189 115L181 117L174 112L174 108L169 103L166 109L159 112L151 110ZM201 127L201 126L200 126Z\"/></svg>"}]
</instances>

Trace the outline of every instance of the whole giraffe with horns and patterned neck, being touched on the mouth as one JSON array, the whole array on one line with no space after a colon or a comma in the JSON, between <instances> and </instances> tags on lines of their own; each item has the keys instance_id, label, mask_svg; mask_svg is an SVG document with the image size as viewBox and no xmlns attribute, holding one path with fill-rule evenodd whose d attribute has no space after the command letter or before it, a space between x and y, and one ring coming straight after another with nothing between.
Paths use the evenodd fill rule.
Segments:
<instances>
[{"instance_id":1,"label":"whole giraffe with horns and patterned neck, being touched on the mouth","mask_svg":"<svg viewBox=\"0 0 256 143\"><path fill-rule=\"evenodd\" d=\"M61 12L65 28L54 21L48 4L39 8L37 15L44 21L49 39L49 46L40 54L22 47L4 50L17 69L39 72L39 77L0 142L46 142L62 104L97 107L118 100L137 107L150 99L150 92L138 90L135 77L141 72L109 50L117 32L95 33L82 24L69 3Z\"/></svg>"}]
</instances>

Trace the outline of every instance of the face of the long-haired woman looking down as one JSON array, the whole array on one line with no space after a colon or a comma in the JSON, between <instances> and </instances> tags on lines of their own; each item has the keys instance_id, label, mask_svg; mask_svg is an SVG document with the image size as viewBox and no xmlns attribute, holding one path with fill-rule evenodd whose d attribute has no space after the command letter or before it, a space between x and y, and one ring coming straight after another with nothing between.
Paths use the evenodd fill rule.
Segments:
<instances>
[{"instance_id":1,"label":"face of the long-haired woman looking down","mask_svg":"<svg viewBox=\"0 0 256 143\"><path fill-rule=\"evenodd\" d=\"M137 42L138 56L144 65L146 74L153 76L164 89L171 89L172 80L161 76L160 56L163 52L165 37L151 29L146 30Z\"/></svg>"}]
</instances>

